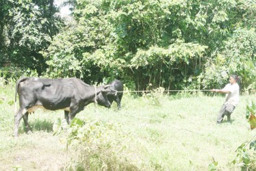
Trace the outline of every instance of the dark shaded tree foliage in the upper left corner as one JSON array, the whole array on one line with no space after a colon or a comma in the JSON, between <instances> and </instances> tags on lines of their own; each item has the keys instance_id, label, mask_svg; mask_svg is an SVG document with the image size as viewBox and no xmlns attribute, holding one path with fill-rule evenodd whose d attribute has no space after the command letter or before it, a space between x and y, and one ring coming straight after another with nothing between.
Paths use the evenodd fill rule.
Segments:
<instances>
[{"instance_id":1,"label":"dark shaded tree foliage in the upper left corner","mask_svg":"<svg viewBox=\"0 0 256 171\"><path fill-rule=\"evenodd\" d=\"M47 67L40 51L62 27L53 0L0 1L0 67L2 76L24 70L40 75ZM8 72L9 73L8 73Z\"/></svg>"}]
</instances>

